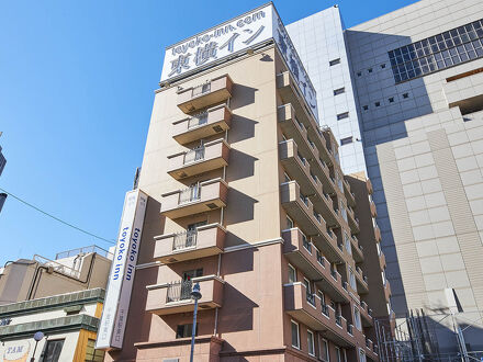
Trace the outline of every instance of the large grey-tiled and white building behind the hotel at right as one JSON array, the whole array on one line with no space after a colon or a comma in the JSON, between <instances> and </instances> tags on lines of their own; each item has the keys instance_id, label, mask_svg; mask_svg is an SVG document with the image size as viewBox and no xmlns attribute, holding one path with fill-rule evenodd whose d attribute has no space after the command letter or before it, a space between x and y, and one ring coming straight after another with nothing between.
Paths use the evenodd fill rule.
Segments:
<instances>
[{"instance_id":1,"label":"large grey-tiled and white building behind the hotel at right","mask_svg":"<svg viewBox=\"0 0 483 362\"><path fill-rule=\"evenodd\" d=\"M422 0L350 29L334 7L288 31L342 170L372 181L400 339L483 350L483 3Z\"/></svg>"}]
</instances>

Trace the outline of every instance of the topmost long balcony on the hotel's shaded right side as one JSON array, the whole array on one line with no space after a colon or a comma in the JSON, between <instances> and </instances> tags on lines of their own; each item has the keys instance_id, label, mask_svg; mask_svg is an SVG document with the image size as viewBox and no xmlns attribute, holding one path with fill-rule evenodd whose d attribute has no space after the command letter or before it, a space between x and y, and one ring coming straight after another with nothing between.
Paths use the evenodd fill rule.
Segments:
<instances>
[{"instance_id":1,"label":"topmost long balcony on the hotel's shaded right side","mask_svg":"<svg viewBox=\"0 0 483 362\"><path fill-rule=\"evenodd\" d=\"M310 105L305 102L290 71L277 75L277 89L282 101L293 105L297 117L305 125L307 136L314 143L315 148L321 152L321 157L326 162L332 163L332 157L326 147L325 138L319 131L313 113L308 110Z\"/></svg>"}]
</instances>

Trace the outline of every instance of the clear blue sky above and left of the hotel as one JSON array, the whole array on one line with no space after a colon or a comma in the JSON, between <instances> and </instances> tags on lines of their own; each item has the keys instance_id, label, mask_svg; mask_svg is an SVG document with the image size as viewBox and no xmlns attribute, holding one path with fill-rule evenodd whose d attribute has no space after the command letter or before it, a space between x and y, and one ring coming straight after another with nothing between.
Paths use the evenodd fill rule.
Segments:
<instances>
[{"instance_id":1,"label":"clear blue sky above and left of the hotel","mask_svg":"<svg viewBox=\"0 0 483 362\"><path fill-rule=\"evenodd\" d=\"M141 166L164 48L266 1L3 1L0 3L0 188L115 239ZM415 1L342 0L346 26ZM285 24L335 2L282 0ZM0 265L105 241L9 197Z\"/></svg>"}]
</instances>

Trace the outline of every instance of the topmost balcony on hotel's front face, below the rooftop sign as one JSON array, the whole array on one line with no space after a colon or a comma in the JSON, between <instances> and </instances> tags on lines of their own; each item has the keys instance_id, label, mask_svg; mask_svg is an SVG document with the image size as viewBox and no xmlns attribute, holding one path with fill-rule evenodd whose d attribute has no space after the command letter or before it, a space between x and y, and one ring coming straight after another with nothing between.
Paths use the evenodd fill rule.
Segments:
<instances>
[{"instance_id":1,"label":"topmost balcony on hotel's front face, below the rooftop sign","mask_svg":"<svg viewBox=\"0 0 483 362\"><path fill-rule=\"evenodd\" d=\"M192 113L226 101L232 97L233 81L228 75L213 78L206 83L178 91L178 108L183 113Z\"/></svg>"}]
</instances>

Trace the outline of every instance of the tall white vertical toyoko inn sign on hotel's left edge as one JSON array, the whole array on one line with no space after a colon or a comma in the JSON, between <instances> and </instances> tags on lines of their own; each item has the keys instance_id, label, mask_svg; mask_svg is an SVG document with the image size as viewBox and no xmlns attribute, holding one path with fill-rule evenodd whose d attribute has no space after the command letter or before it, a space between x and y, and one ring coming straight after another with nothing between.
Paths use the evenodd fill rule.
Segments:
<instances>
[{"instance_id":1,"label":"tall white vertical toyoko inn sign on hotel's left edge","mask_svg":"<svg viewBox=\"0 0 483 362\"><path fill-rule=\"evenodd\" d=\"M146 204L147 195L143 191L133 190L126 193L96 342L97 349L122 348Z\"/></svg>"}]
</instances>

